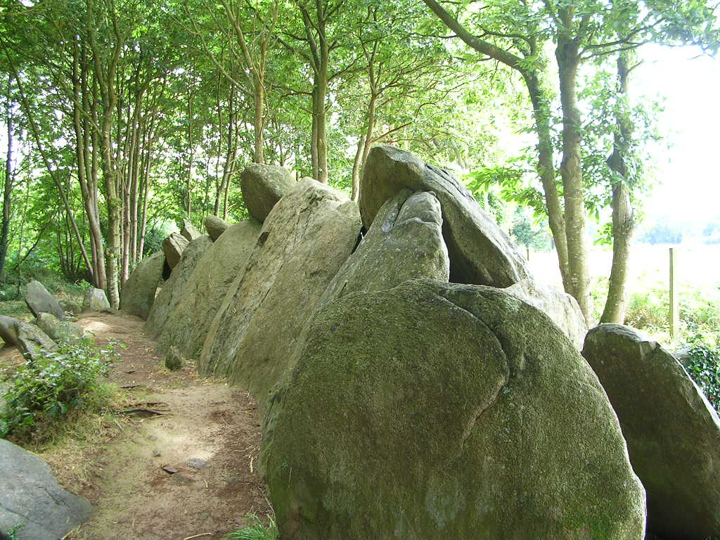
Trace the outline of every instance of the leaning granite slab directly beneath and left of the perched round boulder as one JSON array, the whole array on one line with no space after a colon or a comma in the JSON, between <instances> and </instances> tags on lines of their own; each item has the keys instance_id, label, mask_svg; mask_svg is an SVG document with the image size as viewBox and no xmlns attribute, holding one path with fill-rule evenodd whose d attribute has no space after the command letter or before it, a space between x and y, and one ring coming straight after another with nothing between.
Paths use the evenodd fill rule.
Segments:
<instances>
[{"instance_id":1,"label":"leaning granite slab directly beneath and left of the perched round boulder","mask_svg":"<svg viewBox=\"0 0 720 540\"><path fill-rule=\"evenodd\" d=\"M243 279L260 228L253 219L230 225L202 253L158 336L158 354L162 356L169 347L176 346L186 358L199 356L228 291L237 290Z\"/></svg>"}]
</instances>

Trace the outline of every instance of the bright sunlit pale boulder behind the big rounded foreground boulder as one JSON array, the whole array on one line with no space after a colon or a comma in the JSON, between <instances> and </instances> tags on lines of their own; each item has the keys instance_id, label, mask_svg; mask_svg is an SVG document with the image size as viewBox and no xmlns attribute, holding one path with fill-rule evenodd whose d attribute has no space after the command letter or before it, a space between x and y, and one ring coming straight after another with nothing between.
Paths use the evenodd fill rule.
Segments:
<instances>
[{"instance_id":1,"label":"bright sunlit pale boulder behind the big rounded foreground boulder","mask_svg":"<svg viewBox=\"0 0 720 540\"><path fill-rule=\"evenodd\" d=\"M565 336L575 343L578 351L582 349L585 334L588 333L588 325L580 311L580 305L570 294L533 279L523 279L510 285L505 292L544 312L553 323L558 325Z\"/></svg>"}]
</instances>

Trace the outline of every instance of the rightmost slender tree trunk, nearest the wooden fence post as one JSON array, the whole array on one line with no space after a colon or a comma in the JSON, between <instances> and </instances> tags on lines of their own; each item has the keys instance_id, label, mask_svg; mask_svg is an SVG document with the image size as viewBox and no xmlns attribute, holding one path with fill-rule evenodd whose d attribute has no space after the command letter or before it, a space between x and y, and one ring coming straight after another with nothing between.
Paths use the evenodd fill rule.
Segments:
<instances>
[{"instance_id":1,"label":"rightmost slender tree trunk, nearest the wooden fence post","mask_svg":"<svg viewBox=\"0 0 720 540\"><path fill-rule=\"evenodd\" d=\"M618 55L618 101L627 103L629 86L629 52ZM613 174L613 266L610 271L608 299L605 303L600 323L624 323L625 284L627 280L630 242L635 227L634 212L627 186L626 157L632 137L631 120L627 107L618 107L613 153L608 158L608 166Z\"/></svg>"}]
</instances>

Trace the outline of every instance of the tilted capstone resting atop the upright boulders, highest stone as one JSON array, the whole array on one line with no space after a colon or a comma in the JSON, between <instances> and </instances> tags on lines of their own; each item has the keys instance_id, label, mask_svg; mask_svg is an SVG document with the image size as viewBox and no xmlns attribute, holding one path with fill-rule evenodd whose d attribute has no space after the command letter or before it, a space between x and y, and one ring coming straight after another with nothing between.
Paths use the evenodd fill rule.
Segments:
<instances>
[{"instance_id":1,"label":"tilted capstone resting atop the upright boulders, highest stone","mask_svg":"<svg viewBox=\"0 0 720 540\"><path fill-rule=\"evenodd\" d=\"M450 255L450 281L509 287L530 276L512 240L448 171L392 146L370 150L360 183L360 212L370 228L382 204L403 188L440 201Z\"/></svg>"}]
</instances>

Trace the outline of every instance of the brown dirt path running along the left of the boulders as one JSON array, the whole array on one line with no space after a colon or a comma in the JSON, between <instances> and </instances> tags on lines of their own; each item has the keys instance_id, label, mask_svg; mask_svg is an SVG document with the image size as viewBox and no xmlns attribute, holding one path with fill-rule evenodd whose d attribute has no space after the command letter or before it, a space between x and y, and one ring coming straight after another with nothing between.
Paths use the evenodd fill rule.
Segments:
<instances>
[{"instance_id":1,"label":"brown dirt path running along the left of the boulders","mask_svg":"<svg viewBox=\"0 0 720 540\"><path fill-rule=\"evenodd\" d=\"M98 343L127 346L110 379L143 385L121 390L136 404L130 408L166 415L116 421L117 435L86 452L91 474L78 487L97 510L68 540L220 539L244 526L248 513L265 517L270 508L257 474L260 420L251 397L199 379L194 366L168 372L138 318L96 314L79 323ZM61 456L49 461L60 478L77 465Z\"/></svg>"}]
</instances>

